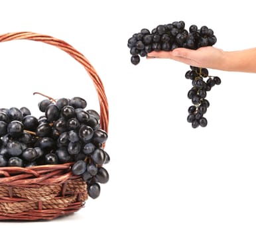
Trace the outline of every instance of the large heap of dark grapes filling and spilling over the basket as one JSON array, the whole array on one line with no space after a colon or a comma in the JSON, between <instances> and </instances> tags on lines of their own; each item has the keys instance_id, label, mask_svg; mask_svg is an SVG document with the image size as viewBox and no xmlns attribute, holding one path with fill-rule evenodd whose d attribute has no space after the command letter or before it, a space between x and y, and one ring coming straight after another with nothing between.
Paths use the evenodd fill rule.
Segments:
<instances>
[{"instance_id":1,"label":"large heap of dark grapes filling and spilling over the basket","mask_svg":"<svg viewBox=\"0 0 256 232\"><path fill-rule=\"evenodd\" d=\"M38 119L27 107L0 109L0 166L29 167L74 162L72 173L88 184L88 194L97 198L99 183L109 174L103 164L109 155L103 150L107 133L100 129L99 114L85 110L81 97L44 99L38 103L44 113Z\"/></svg>"}]
</instances>

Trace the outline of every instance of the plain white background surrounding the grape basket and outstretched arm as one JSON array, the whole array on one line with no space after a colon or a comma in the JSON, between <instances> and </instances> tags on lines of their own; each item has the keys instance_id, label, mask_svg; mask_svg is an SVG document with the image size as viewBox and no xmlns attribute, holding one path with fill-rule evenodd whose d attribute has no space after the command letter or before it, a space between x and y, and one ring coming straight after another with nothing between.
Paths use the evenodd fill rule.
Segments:
<instances>
[{"instance_id":1,"label":"plain white background surrounding the grape basket and outstretched arm","mask_svg":"<svg viewBox=\"0 0 256 232\"><path fill-rule=\"evenodd\" d=\"M127 39L143 28L183 20L212 28L217 47L255 47L253 1L1 1L0 33L61 38L96 68L109 100L111 178L101 196L68 217L0 222L1 231L256 231L256 74L209 70L222 85L208 94L208 127L186 122L188 66L172 60L130 63ZM255 64L256 65L256 64ZM0 44L0 107L29 107L33 96L82 96L98 110L80 64L30 41Z\"/></svg>"}]
</instances>

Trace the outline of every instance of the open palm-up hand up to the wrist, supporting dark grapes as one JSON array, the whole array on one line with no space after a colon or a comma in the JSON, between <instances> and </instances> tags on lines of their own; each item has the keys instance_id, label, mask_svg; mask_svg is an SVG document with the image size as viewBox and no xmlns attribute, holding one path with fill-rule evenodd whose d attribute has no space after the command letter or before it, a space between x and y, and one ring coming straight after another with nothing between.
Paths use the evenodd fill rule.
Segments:
<instances>
[{"instance_id":1,"label":"open palm-up hand up to the wrist, supporting dark grapes","mask_svg":"<svg viewBox=\"0 0 256 232\"><path fill-rule=\"evenodd\" d=\"M198 48L198 50L176 48L171 52L150 52L147 54L147 57L169 58L200 68L225 69L225 52L212 46Z\"/></svg>"}]
</instances>

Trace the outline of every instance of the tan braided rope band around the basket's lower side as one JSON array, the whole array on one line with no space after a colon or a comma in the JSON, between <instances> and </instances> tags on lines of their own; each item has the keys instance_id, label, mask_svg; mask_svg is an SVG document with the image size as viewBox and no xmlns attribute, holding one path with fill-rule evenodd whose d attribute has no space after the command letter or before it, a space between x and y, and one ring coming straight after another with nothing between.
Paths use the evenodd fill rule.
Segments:
<instances>
[{"instance_id":1,"label":"tan braided rope band around the basket's lower side","mask_svg":"<svg viewBox=\"0 0 256 232\"><path fill-rule=\"evenodd\" d=\"M0 186L0 219L1 215L10 218L12 214L34 212L39 210L43 215L44 209L63 211L72 203L76 204L76 210L84 205L88 199L87 185L82 179L68 180L63 184L49 184L31 188ZM36 194L39 192L39 194ZM65 211L65 210L64 210ZM69 210L67 211L70 212ZM48 211L46 211L46 214ZM60 214L64 214L63 212Z\"/></svg>"}]
</instances>

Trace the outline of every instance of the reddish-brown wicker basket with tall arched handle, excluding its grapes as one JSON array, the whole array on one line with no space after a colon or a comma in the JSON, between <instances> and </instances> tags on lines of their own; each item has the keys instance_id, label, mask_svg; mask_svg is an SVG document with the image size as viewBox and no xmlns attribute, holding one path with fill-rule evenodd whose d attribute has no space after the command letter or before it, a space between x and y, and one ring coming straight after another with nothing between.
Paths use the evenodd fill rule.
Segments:
<instances>
[{"instance_id":1,"label":"reddish-brown wicker basket with tall arched handle, excluding its grapes","mask_svg":"<svg viewBox=\"0 0 256 232\"><path fill-rule=\"evenodd\" d=\"M64 50L86 68L97 90L101 129L107 131L108 105L103 84L90 62L70 44L34 32L0 35L0 42L34 40ZM71 172L73 163L33 166L30 168L0 167L0 219L54 219L78 211L88 199L86 182Z\"/></svg>"}]
</instances>

